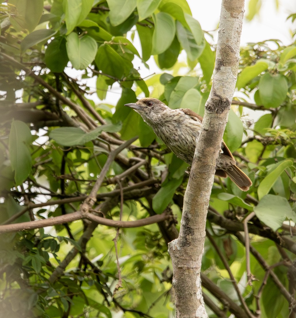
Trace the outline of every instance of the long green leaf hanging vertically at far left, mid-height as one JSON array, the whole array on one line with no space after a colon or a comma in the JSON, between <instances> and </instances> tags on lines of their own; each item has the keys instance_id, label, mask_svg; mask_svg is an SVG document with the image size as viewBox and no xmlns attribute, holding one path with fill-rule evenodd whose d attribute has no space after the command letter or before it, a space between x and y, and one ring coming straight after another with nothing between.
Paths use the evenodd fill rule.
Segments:
<instances>
[{"instance_id":1,"label":"long green leaf hanging vertically at far left, mid-height","mask_svg":"<svg viewBox=\"0 0 296 318\"><path fill-rule=\"evenodd\" d=\"M9 156L15 171L16 185L27 179L32 168L32 159L28 144L32 142L30 128L23 121L13 121L9 134Z\"/></svg>"}]
</instances>

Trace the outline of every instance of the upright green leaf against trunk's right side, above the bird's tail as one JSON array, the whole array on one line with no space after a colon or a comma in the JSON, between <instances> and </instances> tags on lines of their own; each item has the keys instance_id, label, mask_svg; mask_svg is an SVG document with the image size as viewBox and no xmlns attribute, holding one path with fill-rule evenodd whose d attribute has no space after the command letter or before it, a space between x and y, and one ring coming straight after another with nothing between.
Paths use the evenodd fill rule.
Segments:
<instances>
[{"instance_id":1,"label":"upright green leaf against trunk's right side, above the bird's tail","mask_svg":"<svg viewBox=\"0 0 296 318\"><path fill-rule=\"evenodd\" d=\"M230 109L223 139L231 152L240 147L243 132L244 128L240 118Z\"/></svg>"}]
</instances>

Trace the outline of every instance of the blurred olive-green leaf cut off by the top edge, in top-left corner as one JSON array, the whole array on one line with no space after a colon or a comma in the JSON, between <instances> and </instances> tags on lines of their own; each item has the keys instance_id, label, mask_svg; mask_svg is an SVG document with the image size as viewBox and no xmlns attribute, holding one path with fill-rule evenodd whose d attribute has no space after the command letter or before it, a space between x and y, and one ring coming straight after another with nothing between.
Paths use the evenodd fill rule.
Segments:
<instances>
[{"instance_id":1,"label":"blurred olive-green leaf cut off by the top edge, in top-left corner","mask_svg":"<svg viewBox=\"0 0 296 318\"><path fill-rule=\"evenodd\" d=\"M43 12L43 0L11 0L9 3L16 6L18 24L30 32L38 25Z\"/></svg>"}]
</instances>

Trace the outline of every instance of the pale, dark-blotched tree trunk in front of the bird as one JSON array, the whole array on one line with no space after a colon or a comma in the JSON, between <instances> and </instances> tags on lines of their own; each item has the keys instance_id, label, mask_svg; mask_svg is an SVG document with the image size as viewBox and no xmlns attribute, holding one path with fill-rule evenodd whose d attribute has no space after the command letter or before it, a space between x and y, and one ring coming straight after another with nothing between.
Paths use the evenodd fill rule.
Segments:
<instances>
[{"instance_id":1,"label":"pale, dark-blotched tree trunk in front of the bird","mask_svg":"<svg viewBox=\"0 0 296 318\"><path fill-rule=\"evenodd\" d=\"M177 318L207 317L201 258L215 166L238 73L243 13L244 0L222 1L213 86L184 197L180 234L169 244Z\"/></svg>"}]
</instances>

